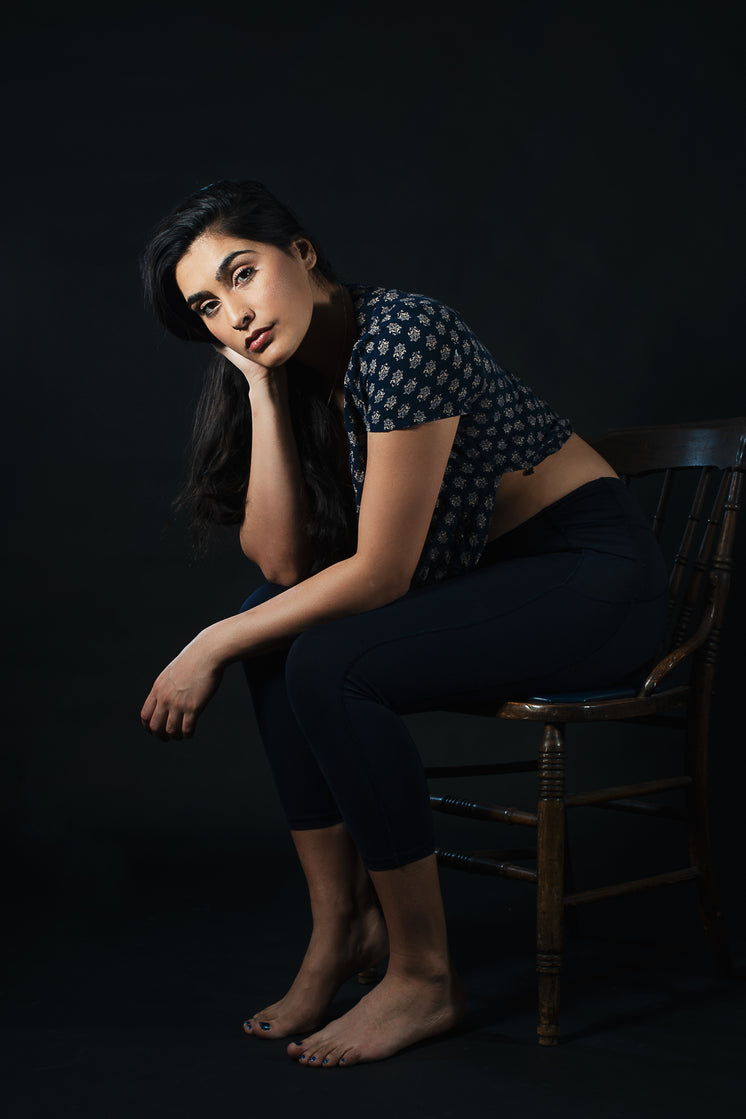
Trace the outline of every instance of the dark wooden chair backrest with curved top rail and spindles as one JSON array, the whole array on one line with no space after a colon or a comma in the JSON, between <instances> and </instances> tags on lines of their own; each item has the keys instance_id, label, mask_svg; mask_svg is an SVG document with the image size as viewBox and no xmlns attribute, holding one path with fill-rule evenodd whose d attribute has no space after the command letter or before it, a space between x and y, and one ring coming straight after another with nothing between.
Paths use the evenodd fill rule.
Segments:
<instances>
[{"instance_id":1,"label":"dark wooden chair backrest with curved top rail and spindles","mask_svg":"<svg viewBox=\"0 0 746 1119\"><path fill-rule=\"evenodd\" d=\"M655 476L653 532L659 539L676 533L669 624L659 657L678 649L709 610L705 659L714 667L746 469L746 417L611 431L594 446L627 485ZM650 496L649 483L645 489Z\"/></svg>"}]
</instances>

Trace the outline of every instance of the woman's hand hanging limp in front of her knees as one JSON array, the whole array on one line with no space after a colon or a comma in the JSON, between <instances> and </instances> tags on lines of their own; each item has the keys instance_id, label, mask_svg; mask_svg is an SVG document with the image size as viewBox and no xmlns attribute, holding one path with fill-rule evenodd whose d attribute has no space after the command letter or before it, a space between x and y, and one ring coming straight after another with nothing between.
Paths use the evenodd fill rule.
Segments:
<instances>
[{"instance_id":1,"label":"woman's hand hanging limp in front of her knees","mask_svg":"<svg viewBox=\"0 0 746 1119\"><path fill-rule=\"evenodd\" d=\"M145 699L142 725L162 742L190 739L200 712L215 695L223 676L223 665L210 656L204 634L181 650L167 665Z\"/></svg>"}]
</instances>

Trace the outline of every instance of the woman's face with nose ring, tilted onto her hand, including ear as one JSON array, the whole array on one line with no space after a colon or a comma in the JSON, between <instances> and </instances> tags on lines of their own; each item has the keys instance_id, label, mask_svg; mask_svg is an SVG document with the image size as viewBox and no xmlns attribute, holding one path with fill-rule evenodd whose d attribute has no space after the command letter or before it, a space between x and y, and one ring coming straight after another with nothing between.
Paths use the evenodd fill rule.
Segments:
<instances>
[{"instance_id":1,"label":"woman's face with nose ring, tilted onto her hand, including ear","mask_svg":"<svg viewBox=\"0 0 746 1119\"><path fill-rule=\"evenodd\" d=\"M293 356L308 332L315 261L308 241L283 252L208 231L177 264L176 281L216 341L273 368Z\"/></svg>"}]
</instances>

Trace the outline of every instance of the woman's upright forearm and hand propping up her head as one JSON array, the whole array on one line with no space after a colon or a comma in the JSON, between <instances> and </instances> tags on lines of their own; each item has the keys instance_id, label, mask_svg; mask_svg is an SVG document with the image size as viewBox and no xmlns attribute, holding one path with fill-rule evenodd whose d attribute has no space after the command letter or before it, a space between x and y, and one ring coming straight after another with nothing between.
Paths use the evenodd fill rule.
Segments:
<instances>
[{"instance_id":1,"label":"woman's upright forearm and hand propping up her head","mask_svg":"<svg viewBox=\"0 0 746 1119\"><path fill-rule=\"evenodd\" d=\"M306 491L287 399L283 367L264 369L225 348L219 352L248 382L252 461L240 526L240 547L270 583L293 586L311 567L305 535Z\"/></svg>"}]
</instances>

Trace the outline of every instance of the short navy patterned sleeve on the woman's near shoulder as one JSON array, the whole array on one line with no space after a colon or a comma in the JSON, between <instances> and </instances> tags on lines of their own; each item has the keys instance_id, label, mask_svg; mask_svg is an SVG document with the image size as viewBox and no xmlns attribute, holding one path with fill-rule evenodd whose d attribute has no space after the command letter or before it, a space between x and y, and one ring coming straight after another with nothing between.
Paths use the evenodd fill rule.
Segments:
<instances>
[{"instance_id":1,"label":"short navy patterned sleeve on the woman's near shoulder","mask_svg":"<svg viewBox=\"0 0 746 1119\"><path fill-rule=\"evenodd\" d=\"M466 415L484 389L482 357L461 317L440 303L399 298L377 317L360 378L369 432Z\"/></svg>"}]
</instances>

